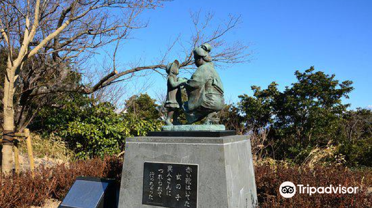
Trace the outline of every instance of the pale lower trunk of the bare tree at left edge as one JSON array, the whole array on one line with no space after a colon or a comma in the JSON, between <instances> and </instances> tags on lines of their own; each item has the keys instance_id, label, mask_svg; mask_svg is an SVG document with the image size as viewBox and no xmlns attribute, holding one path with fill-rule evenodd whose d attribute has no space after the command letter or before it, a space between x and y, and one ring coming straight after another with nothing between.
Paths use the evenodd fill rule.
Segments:
<instances>
[{"instance_id":1,"label":"pale lower trunk of the bare tree at left edge","mask_svg":"<svg viewBox=\"0 0 372 208\"><path fill-rule=\"evenodd\" d=\"M13 135L14 135L14 67L6 69L4 80L3 103L3 143L2 143L2 173L10 173L13 165Z\"/></svg>"}]
</instances>

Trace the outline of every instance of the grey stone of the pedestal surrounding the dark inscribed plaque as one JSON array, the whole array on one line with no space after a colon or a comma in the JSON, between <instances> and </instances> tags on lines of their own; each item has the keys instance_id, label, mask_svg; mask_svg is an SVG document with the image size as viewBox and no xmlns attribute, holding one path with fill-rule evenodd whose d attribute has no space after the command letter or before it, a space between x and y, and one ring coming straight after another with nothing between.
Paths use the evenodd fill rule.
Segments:
<instances>
[{"instance_id":1,"label":"grey stone of the pedestal surrounding the dark inscribed plaque","mask_svg":"<svg viewBox=\"0 0 372 208\"><path fill-rule=\"evenodd\" d=\"M159 208L142 205L145 162L197 164L197 208L257 205L248 136L127 138L119 208Z\"/></svg>"}]
</instances>

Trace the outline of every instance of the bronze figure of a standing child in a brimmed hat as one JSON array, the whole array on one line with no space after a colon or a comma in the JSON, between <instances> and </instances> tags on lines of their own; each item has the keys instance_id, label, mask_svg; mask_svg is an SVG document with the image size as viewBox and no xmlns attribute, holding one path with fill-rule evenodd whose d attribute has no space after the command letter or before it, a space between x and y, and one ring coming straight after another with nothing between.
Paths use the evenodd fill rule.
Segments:
<instances>
[{"instance_id":1,"label":"bronze figure of a standing child in a brimmed hat","mask_svg":"<svg viewBox=\"0 0 372 208\"><path fill-rule=\"evenodd\" d=\"M178 111L182 106L181 98L181 85L187 81L185 78L178 78L180 63L178 60L175 60L172 63L169 63L166 67L166 72L168 74L167 82L167 101L165 102L164 107L167 108L167 118L165 119L165 124L172 126L173 124L178 124ZM175 113L176 112L176 113ZM173 123L171 122L172 115Z\"/></svg>"}]
</instances>

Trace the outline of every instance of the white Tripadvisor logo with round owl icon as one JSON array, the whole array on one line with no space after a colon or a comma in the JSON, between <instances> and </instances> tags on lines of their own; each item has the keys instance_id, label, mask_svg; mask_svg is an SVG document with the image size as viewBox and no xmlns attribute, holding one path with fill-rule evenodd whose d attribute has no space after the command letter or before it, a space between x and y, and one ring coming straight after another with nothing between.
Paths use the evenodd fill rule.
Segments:
<instances>
[{"instance_id":1,"label":"white Tripadvisor logo with round owl icon","mask_svg":"<svg viewBox=\"0 0 372 208\"><path fill-rule=\"evenodd\" d=\"M300 194L356 194L359 187L344 187L341 185L327 187L312 187L304 186L302 184L297 185ZM290 181L283 182L279 187L280 195L284 198L291 198L296 194L296 185Z\"/></svg>"}]
</instances>

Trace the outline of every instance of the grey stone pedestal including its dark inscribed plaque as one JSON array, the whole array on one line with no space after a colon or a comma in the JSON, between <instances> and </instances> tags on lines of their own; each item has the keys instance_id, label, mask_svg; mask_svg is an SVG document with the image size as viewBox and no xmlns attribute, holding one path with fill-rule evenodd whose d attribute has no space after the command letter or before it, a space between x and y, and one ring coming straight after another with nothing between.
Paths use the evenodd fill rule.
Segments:
<instances>
[{"instance_id":1,"label":"grey stone pedestal including its dark inscribed plaque","mask_svg":"<svg viewBox=\"0 0 372 208\"><path fill-rule=\"evenodd\" d=\"M127 138L124 161L119 208L257 206L249 136Z\"/></svg>"}]
</instances>

